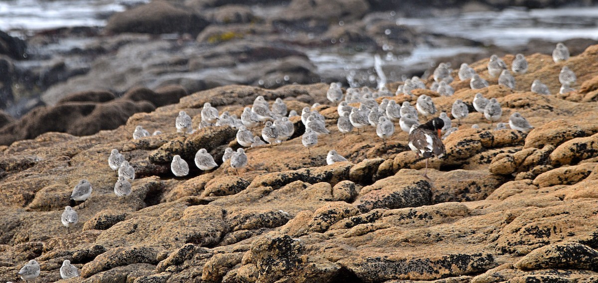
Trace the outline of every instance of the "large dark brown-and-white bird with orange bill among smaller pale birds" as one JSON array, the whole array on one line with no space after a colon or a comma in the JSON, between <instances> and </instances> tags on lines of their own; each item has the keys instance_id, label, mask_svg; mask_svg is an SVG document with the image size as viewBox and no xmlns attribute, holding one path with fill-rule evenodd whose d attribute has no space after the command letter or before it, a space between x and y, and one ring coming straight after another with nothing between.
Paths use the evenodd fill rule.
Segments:
<instances>
[{"instance_id":1,"label":"large dark brown-and-white bird with orange bill among smaller pale birds","mask_svg":"<svg viewBox=\"0 0 598 283\"><path fill-rule=\"evenodd\" d=\"M409 148L426 158L426 170L423 176L428 178L428 159L432 156L441 158L446 153L443 140L441 139L441 130L444 122L440 118L434 118L420 125L409 133Z\"/></svg>"}]
</instances>

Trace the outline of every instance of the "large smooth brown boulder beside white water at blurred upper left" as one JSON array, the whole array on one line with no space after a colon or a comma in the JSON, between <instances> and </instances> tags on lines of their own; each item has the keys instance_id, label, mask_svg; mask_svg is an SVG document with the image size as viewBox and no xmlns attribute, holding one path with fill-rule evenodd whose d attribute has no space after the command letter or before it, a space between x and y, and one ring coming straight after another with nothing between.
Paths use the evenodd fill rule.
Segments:
<instances>
[{"instance_id":1,"label":"large smooth brown boulder beside white water at blurred upper left","mask_svg":"<svg viewBox=\"0 0 598 283\"><path fill-rule=\"evenodd\" d=\"M158 1L114 14L105 30L109 33L199 33L206 26L208 21L199 15L169 2Z\"/></svg>"}]
</instances>

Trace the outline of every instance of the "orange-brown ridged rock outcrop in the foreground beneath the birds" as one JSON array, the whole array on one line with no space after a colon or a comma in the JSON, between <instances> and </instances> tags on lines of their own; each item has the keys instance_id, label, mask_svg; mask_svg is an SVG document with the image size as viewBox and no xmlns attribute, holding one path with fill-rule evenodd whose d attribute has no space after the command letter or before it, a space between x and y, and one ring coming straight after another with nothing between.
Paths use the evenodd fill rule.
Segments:
<instances>
[{"instance_id":1,"label":"orange-brown ridged rock outcrop in the foreground beneath the birds","mask_svg":"<svg viewBox=\"0 0 598 283\"><path fill-rule=\"evenodd\" d=\"M514 56L502 59L510 66ZM470 66L488 79L487 88L471 90L456 79L451 97L413 91L443 111L455 99L471 108L480 92L498 99L503 122L520 112L535 126L529 134L486 130L483 115L471 113L444 140L446 158L431 160L430 179L422 176L425 159L408 150L407 134L383 144L371 129L338 133L327 84L217 87L135 113L115 130L49 132L2 146L0 279L18 281L20 267L36 259L35 282L59 281L68 259L83 280L64 282L594 282L598 45L564 63L540 53L527 60L515 90L489 78L483 59ZM529 91L542 78L558 93L565 65L577 75L576 91ZM390 91L398 85L390 83ZM204 147L220 164L225 147L239 147L227 126L176 133L180 110L197 127L203 103L239 116L259 95L270 103L280 97L299 112L320 103L332 134L308 154L295 117L295 136L248 148L239 174L225 162L208 173L172 176L175 154L193 164ZM133 140L136 125L163 134ZM112 148L136 171L126 201L113 192L116 177L106 162ZM349 161L326 165L331 149ZM81 179L93 195L75 208L80 224L67 234L60 213L74 205L68 198Z\"/></svg>"}]
</instances>

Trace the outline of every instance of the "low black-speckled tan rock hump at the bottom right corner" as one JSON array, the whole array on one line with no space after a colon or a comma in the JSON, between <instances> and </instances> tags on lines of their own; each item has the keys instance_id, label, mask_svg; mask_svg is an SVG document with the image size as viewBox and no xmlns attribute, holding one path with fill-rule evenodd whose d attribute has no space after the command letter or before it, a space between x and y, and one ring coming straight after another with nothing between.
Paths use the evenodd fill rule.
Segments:
<instances>
[{"instance_id":1,"label":"low black-speckled tan rock hump at the bottom right corner","mask_svg":"<svg viewBox=\"0 0 598 283\"><path fill-rule=\"evenodd\" d=\"M548 268L587 269L596 271L598 251L576 242L560 242L533 250L515 263L523 270Z\"/></svg>"}]
</instances>

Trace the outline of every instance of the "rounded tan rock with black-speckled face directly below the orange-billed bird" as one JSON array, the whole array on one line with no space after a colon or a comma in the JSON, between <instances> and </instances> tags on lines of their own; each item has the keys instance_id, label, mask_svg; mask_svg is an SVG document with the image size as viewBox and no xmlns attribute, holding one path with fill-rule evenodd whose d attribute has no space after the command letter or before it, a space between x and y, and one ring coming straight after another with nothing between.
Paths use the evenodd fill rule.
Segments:
<instances>
[{"instance_id":1,"label":"rounded tan rock with black-speckled face directly below the orange-billed bird","mask_svg":"<svg viewBox=\"0 0 598 283\"><path fill-rule=\"evenodd\" d=\"M376 208L404 208L429 205L432 202L432 184L422 175L401 170L359 192L355 204L364 213Z\"/></svg>"}]
</instances>

